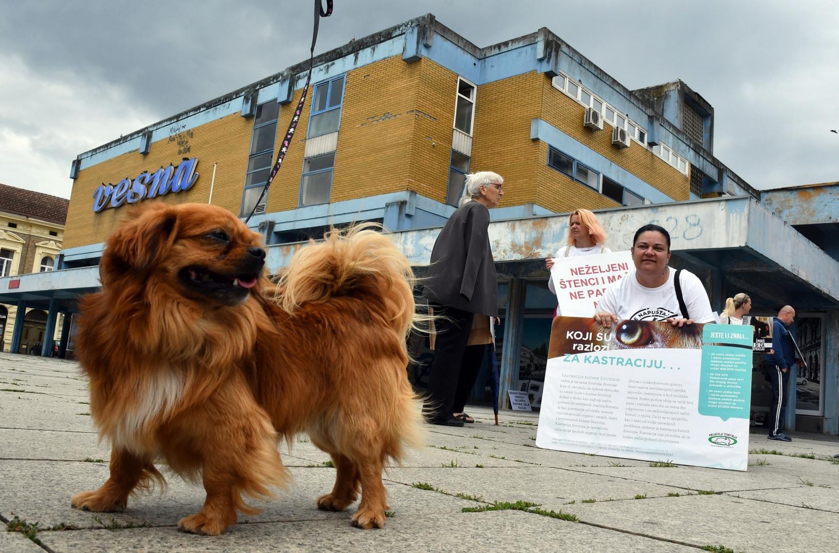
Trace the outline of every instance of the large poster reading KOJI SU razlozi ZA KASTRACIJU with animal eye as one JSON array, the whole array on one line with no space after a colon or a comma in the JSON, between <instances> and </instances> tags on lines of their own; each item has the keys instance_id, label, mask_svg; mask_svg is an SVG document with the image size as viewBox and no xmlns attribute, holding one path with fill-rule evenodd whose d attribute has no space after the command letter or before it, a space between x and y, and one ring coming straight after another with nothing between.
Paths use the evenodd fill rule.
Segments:
<instances>
[{"instance_id":1,"label":"large poster reading KOJI SU razlozi ZA KASTRACIJU with animal eye","mask_svg":"<svg viewBox=\"0 0 839 553\"><path fill-rule=\"evenodd\" d=\"M745 471L752 329L556 317L536 445Z\"/></svg>"}]
</instances>

